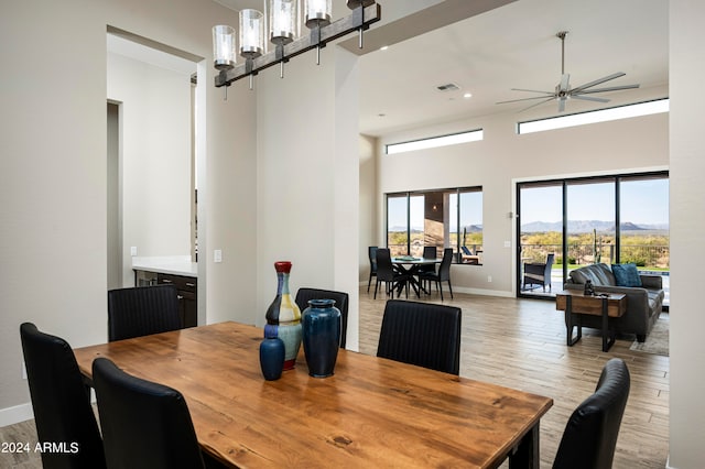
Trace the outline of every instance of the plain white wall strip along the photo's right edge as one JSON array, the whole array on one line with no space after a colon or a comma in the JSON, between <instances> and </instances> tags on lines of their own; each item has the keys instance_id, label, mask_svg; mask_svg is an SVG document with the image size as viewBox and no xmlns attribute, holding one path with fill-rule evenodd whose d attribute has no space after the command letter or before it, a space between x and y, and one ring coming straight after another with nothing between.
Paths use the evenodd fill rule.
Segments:
<instances>
[{"instance_id":1,"label":"plain white wall strip along the photo's right edge","mask_svg":"<svg viewBox=\"0 0 705 469\"><path fill-rule=\"evenodd\" d=\"M671 395L670 467L702 468L705 460L705 97L693 92L705 74L705 4L670 3L671 94Z\"/></svg>"}]
</instances>

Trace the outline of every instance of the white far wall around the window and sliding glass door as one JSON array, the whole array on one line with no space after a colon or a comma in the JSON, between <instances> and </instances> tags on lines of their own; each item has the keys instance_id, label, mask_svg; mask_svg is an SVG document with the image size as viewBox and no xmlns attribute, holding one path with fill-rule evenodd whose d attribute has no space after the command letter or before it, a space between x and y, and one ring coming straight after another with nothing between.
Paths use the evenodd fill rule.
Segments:
<instances>
[{"instance_id":1,"label":"white far wall around the window and sliding glass door","mask_svg":"<svg viewBox=\"0 0 705 469\"><path fill-rule=\"evenodd\" d=\"M652 89L666 96L665 89ZM516 288L517 179L546 178L626 171L666 168L669 164L668 114L519 135L518 119L502 112L480 119L397 132L379 138L377 187L377 239L386 244L384 194L446 187L481 186L484 265L453 265L453 287L459 292L511 296ZM484 129L484 140L465 144L383 154L384 145L462 130ZM362 215L372 217L373 215ZM488 276L492 282L488 282Z\"/></svg>"}]
</instances>

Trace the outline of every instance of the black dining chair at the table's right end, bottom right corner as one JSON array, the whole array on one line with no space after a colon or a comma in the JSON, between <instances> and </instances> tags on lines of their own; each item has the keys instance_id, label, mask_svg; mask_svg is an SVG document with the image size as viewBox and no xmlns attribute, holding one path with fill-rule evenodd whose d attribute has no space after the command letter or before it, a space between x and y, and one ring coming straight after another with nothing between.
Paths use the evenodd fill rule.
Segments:
<instances>
[{"instance_id":1,"label":"black dining chair at the table's right end, bottom right corner","mask_svg":"<svg viewBox=\"0 0 705 469\"><path fill-rule=\"evenodd\" d=\"M612 467L629 386L625 361L610 359L603 368L595 393L577 406L565 425L554 469Z\"/></svg>"}]
</instances>

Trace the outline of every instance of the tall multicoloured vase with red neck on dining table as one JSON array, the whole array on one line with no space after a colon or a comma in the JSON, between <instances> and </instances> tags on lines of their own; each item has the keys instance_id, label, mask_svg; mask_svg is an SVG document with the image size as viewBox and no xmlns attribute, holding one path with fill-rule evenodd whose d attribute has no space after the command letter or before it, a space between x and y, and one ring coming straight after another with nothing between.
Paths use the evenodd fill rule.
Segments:
<instances>
[{"instance_id":1,"label":"tall multicoloured vase with red neck on dining table","mask_svg":"<svg viewBox=\"0 0 705 469\"><path fill-rule=\"evenodd\" d=\"M276 296L267 309L264 338L278 337L284 342L284 371L296 364L296 356L301 348L301 309L289 292L289 274L291 262L274 262L276 271Z\"/></svg>"}]
</instances>

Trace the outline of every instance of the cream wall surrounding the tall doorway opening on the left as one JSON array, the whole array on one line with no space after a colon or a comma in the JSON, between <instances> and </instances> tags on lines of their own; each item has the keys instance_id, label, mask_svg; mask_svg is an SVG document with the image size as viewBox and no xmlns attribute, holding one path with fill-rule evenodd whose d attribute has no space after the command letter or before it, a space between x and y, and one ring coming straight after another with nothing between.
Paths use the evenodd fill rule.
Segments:
<instances>
[{"instance_id":1,"label":"cream wall surrounding the tall doorway opening on the left","mask_svg":"<svg viewBox=\"0 0 705 469\"><path fill-rule=\"evenodd\" d=\"M199 210L213 226L203 246L226 258L199 265L199 307L208 302L207 320L253 321L254 103L235 89L224 102L210 66L210 28L237 20L210 0L3 2L0 41L12 46L0 48L0 425L31 417L22 321L74 347L107 339L107 25L204 57Z\"/></svg>"}]
</instances>

